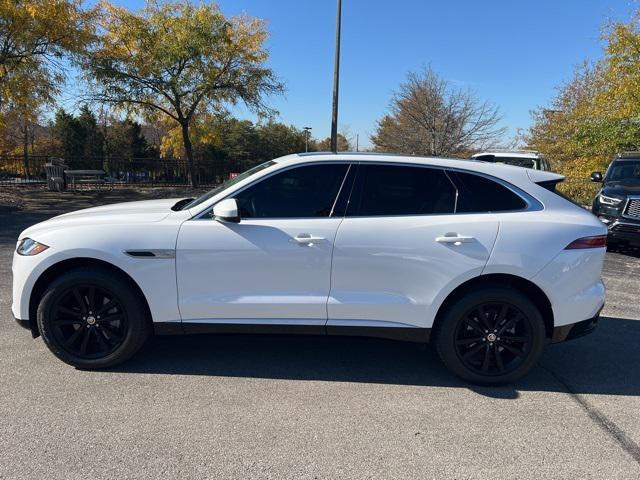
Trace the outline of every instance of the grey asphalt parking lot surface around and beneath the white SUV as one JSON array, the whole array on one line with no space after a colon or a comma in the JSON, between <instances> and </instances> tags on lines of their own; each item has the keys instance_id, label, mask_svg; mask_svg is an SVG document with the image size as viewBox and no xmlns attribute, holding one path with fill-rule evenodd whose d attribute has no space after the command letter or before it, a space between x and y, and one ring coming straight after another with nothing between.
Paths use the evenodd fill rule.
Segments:
<instances>
[{"instance_id":1,"label":"grey asphalt parking lot surface around and beneath the white SUV","mask_svg":"<svg viewBox=\"0 0 640 480\"><path fill-rule=\"evenodd\" d=\"M353 338L162 337L83 372L13 322L11 256L88 204L0 211L0 479L640 478L638 252L607 254L598 330L510 387Z\"/></svg>"}]
</instances>

